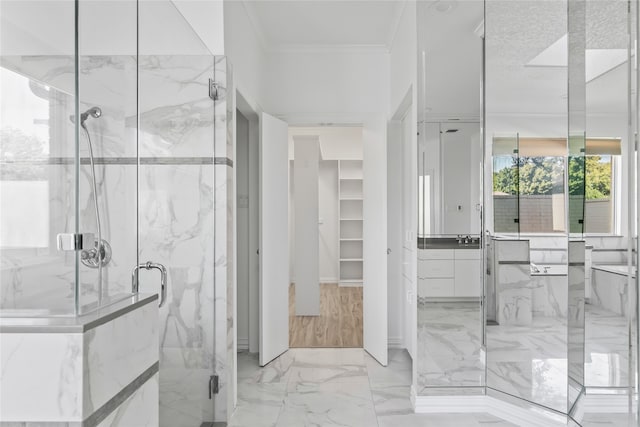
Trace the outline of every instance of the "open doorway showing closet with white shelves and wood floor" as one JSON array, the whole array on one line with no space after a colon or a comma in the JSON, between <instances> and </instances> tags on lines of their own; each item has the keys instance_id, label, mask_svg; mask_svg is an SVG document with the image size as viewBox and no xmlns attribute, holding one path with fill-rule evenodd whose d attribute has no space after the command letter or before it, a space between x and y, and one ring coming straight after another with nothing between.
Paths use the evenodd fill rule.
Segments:
<instances>
[{"instance_id":1,"label":"open doorway showing closet with white shelves and wood floor","mask_svg":"<svg viewBox=\"0 0 640 427\"><path fill-rule=\"evenodd\" d=\"M361 126L289 128L289 347L363 345Z\"/></svg>"}]
</instances>

